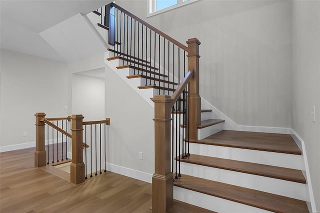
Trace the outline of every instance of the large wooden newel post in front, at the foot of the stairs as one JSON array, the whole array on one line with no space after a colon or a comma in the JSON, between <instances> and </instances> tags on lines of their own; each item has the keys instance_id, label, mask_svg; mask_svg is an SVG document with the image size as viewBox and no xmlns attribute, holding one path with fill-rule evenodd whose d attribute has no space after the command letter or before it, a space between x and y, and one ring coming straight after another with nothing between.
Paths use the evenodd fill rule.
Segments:
<instances>
[{"instance_id":1,"label":"large wooden newel post in front, at the foot of the stairs","mask_svg":"<svg viewBox=\"0 0 320 213\"><path fill-rule=\"evenodd\" d=\"M152 212L168 212L173 205L173 175L170 166L169 95L156 95L154 102L154 174L152 176Z\"/></svg>"}]
</instances>

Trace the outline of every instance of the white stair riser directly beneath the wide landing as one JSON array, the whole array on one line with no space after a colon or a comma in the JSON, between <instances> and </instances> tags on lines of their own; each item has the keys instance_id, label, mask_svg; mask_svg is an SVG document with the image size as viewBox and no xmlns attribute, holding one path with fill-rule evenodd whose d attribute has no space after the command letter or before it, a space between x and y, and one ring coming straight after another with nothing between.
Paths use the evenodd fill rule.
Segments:
<instances>
[{"instance_id":1,"label":"white stair riser directly beneath the wide landing","mask_svg":"<svg viewBox=\"0 0 320 213\"><path fill-rule=\"evenodd\" d=\"M193 154L301 169L301 155L297 154L285 154L191 142L189 146L190 153Z\"/></svg>"}]
</instances>

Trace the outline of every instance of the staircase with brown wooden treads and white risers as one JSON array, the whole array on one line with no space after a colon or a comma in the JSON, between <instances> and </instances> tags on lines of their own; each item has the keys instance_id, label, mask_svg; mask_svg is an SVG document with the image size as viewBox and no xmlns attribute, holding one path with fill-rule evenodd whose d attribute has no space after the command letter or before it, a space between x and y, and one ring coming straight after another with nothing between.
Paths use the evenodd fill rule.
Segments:
<instances>
[{"instance_id":1,"label":"staircase with brown wooden treads and white risers","mask_svg":"<svg viewBox=\"0 0 320 213\"><path fill-rule=\"evenodd\" d=\"M116 4L113 3L108 8L112 8L112 5ZM116 39L118 37L116 33L115 39L111 41L113 48L108 48L106 53L105 63L154 107L149 98L158 94L171 96L181 83L180 72L174 74L174 65L173 73L169 70L169 65L166 68L165 56L160 59L162 54L160 46L166 45L164 38L162 42L159 35L157 40L155 32L153 35L153 31L148 31L147 28L144 35L142 30L142 39L146 39L145 45L150 42L151 46L154 42L156 46L155 43L159 42L158 49L154 47L150 53L147 49L144 52L145 55L143 53L137 55L135 50L132 53L132 47L128 47L129 38L132 38L132 32L128 38L129 29L133 27L132 22L128 26L129 19L133 17L134 20L142 20L123 8L121 9L121 14L123 11L122 21L125 20L122 30L123 33L126 30L126 38L123 35L122 40L120 35L120 39ZM119 7L117 10L110 9L110 17L119 19L117 17L119 11ZM101 15L101 13L94 13ZM116 25L122 27L121 22ZM134 33L136 32L135 27L134 21ZM109 26L102 28L111 30ZM144 37L148 33L150 33L149 40ZM134 34L134 42L135 40ZM135 48L136 44L134 43L133 46ZM139 44L137 46L139 49ZM173 54L174 48L173 46ZM140 50L142 49L143 47ZM170 53L169 50L163 49L167 54ZM185 49L183 50L182 47L180 49L180 46L176 49L179 54L180 50L185 53ZM159 50L159 54L155 53L156 50ZM159 57L159 60L156 60L156 57ZM163 65L161 65L162 62ZM179 67L180 63L179 60ZM185 65L185 62L181 64ZM181 70L184 71L185 68ZM170 111L173 119L172 143L170 144L172 153L177 149L173 145L173 137L179 135L185 138L185 141L182 142L182 153L180 153L179 146L180 154L174 156L178 165L174 166L172 161L171 166L173 176L174 168L179 174L176 175L173 182L174 199L217 212L309 212L305 202L306 180L301 171L301 150L290 135L223 130L223 119L210 117L211 109L200 108L197 109L197 112L201 114L200 123L197 125L190 123L188 126L188 118L185 117L188 111L188 106L185 104L188 92L190 91L184 90L182 96L178 94L178 101ZM192 125L196 126L197 137L195 139L187 136L191 131L188 128L191 128ZM173 129L184 130L182 133L174 133ZM154 208L152 212L153 210L157 212Z\"/></svg>"}]
</instances>

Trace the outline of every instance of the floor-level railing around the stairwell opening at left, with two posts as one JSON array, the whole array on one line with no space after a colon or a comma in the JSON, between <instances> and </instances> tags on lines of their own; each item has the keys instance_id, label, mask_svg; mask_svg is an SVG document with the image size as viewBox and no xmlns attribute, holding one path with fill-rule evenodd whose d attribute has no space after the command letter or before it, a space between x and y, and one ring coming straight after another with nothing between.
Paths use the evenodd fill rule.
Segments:
<instances>
[{"instance_id":1,"label":"floor-level railing around the stairwell opening at left, with two posts","mask_svg":"<svg viewBox=\"0 0 320 213\"><path fill-rule=\"evenodd\" d=\"M58 126L58 120L71 120L71 133L67 132L68 128L66 127L65 130L63 129L63 127L59 127ZM46 150L45 150L45 124L47 124L47 151L49 150L49 130L48 130L48 126L52 127L52 141L54 140L53 135L55 134L55 132L53 132L53 129L56 130L56 135L58 138L58 135L61 133L69 138L71 138L71 148L72 148L72 156L71 156L71 164L70 164L70 182L74 183L74 184L78 184L81 183L85 180L86 175L86 165L89 164L87 163L87 158L86 158L86 152L87 149L90 148L90 152L92 149L92 146L90 147L87 143L86 143L86 131L83 132L83 125L97 125L100 124L100 128L101 128L101 124L104 123L105 125L109 125L110 123L110 119L106 118L105 120L97 120L97 121L83 121L83 116L81 114L73 114L71 116L68 117L60 117L60 118L45 118L45 113L44 112L37 112L35 113L35 134L36 134L36 146L35 146L35 152L34 152L34 166L36 167L40 167L40 166L44 166L46 164L49 164L49 153L46 154ZM54 124L54 121L57 121L57 125ZM67 126L67 124L66 124ZM86 129L86 127L85 127ZM99 146L99 152L100 152L100 157L99 157L99 161L100 161L100 173L101 172L101 161L102 161L102 157L101 157L101 130L100 132L100 146ZM85 135L85 143L83 142L83 134ZM89 135L90 137L92 137L92 135ZM61 137L63 138L63 136ZM57 139L58 140L58 139ZM97 142L96 140L96 130L95 130L95 143ZM106 162L105 160L105 143L106 142L106 131L105 131L105 126L104 126L104 162ZM63 145L63 143L61 143ZM92 143L91 143L92 145ZM62 146L63 147L63 146ZM85 164L83 162L83 147L84 147L84 153L85 153ZM95 159L97 159L97 145L93 144L93 147L95 148ZM57 161L59 161L59 157L58 157L58 141L57 141ZM63 150L63 149L62 149ZM65 150L67 151L67 146L65 148ZM66 156L66 154L65 154ZM92 156L92 154L90 154L90 156ZM62 153L62 159L63 159L63 153ZM62 161L61 159L61 161ZM66 156L66 160L67 156ZM65 162L65 161L64 161ZM89 161L90 165L92 165L92 160ZM54 162L54 152L53 152L53 142L52 142L52 165L56 165L57 163ZM105 163L104 163L105 164ZM85 167L84 167L85 165ZM95 165L97 165L97 161L95 160ZM97 168L95 166L95 168ZM92 168L90 168L90 170L92 171ZM97 169L96 169L97 170ZM104 165L104 171L105 170L105 165ZM96 172L95 172L96 173ZM92 172L91 172L92 174Z\"/></svg>"}]
</instances>

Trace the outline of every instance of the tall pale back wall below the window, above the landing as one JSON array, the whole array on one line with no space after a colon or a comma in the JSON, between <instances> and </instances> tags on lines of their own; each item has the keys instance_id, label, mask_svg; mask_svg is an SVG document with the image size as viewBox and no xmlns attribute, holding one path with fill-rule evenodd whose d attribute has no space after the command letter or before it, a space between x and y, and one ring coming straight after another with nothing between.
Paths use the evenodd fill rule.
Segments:
<instances>
[{"instance_id":1,"label":"tall pale back wall below the window, above the landing","mask_svg":"<svg viewBox=\"0 0 320 213\"><path fill-rule=\"evenodd\" d=\"M237 124L290 127L291 2L199 0L146 18L146 0L116 0L181 43L200 45L200 95Z\"/></svg>"}]
</instances>

